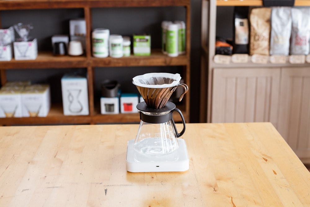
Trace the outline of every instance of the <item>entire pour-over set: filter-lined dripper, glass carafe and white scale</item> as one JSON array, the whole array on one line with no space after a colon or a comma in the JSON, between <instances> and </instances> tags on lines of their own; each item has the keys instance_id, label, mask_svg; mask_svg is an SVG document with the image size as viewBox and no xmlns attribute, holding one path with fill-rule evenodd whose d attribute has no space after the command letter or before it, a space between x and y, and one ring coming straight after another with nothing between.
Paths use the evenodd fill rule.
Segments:
<instances>
[{"instance_id":1,"label":"entire pour-over set: filter-lined dripper, glass carafe and white scale","mask_svg":"<svg viewBox=\"0 0 310 207\"><path fill-rule=\"evenodd\" d=\"M168 101L178 87L181 76L170 73L147 73L133 78L132 83L144 99L137 105L140 125L135 139L128 141L126 169L129 172L180 172L189 169L187 147L181 137L185 132L185 120L175 104ZM179 113L183 123L180 133L173 120L173 112Z\"/></svg>"}]
</instances>

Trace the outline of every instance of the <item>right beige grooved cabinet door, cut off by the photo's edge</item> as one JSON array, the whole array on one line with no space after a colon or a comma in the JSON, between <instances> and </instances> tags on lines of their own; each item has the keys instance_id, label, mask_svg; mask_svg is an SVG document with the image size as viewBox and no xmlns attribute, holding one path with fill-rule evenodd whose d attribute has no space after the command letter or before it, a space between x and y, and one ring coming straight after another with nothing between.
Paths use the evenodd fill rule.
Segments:
<instances>
[{"instance_id":1,"label":"right beige grooved cabinet door, cut off by the photo's edge","mask_svg":"<svg viewBox=\"0 0 310 207\"><path fill-rule=\"evenodd\" d=\"M309 68L282 69L278 130L300 159L310 158Z\"/></svg>"}]
</instances>

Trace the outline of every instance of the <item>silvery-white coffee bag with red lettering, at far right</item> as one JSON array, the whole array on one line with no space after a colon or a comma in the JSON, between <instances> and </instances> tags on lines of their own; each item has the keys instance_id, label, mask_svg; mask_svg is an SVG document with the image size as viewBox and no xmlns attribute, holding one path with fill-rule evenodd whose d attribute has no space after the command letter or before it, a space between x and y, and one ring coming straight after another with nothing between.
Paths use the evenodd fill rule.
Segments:
<instances>
[{"instance_id":1,"label":"silvery-white coffee bag with red lettering, at far right","mask_svg":"<svg viewBox=\"0 0 310 207\"><path fill-rule=\"evenodd\" d=\"M310 38L310 8L291 8L291 55L308 55Z\"/></svg>"}]
</instances>

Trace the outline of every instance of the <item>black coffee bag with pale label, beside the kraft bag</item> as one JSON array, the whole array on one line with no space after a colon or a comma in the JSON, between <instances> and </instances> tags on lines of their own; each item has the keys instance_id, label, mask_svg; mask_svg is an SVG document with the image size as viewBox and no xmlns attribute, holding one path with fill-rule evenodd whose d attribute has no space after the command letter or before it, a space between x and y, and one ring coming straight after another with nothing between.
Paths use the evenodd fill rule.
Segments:
<instances>
[{"instance_id":1,"label":"black coffee bag with pale label, beside the kraft bag","mask_svg":"<svg viewBox=\"0 0 310 207\"><path fill-rule=\"evenodd\" d=\"M233 50L234 54L249 53L249 7L234 7Z\"/></svg>"}]
</instances>

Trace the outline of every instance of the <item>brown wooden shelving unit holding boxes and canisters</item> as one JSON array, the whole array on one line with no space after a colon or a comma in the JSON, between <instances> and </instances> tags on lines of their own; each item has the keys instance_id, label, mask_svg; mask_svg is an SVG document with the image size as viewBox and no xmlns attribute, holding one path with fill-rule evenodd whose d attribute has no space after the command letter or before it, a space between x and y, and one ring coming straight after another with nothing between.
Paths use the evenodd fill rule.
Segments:
<instances>
[{"instance_id":1,"label":"brown wooden shelving unit holding boxes and canisters","mask_svg":"<svg viewBox=\"0 0 310 207\"><path fill-rule=\"evenodd\" d=\"M161 49L152 49L150 56L129 56L122 58L95 58L91 55L91 28L93 8L104 7L176 7L186 8L186 54L178 57L168 57L162 54ZM95 67L130 67L130 66L182 66L184 83L190 87L190 0L0 0L1 10L20 9L61 9L82 8L86 20L86 55L55 57L51 52L38 52L36 60L29 61L1 61L0 77L1 84L7 82L6 71L14 69L57 69L57 68L86 68L88 74L89 111L87 116L64 116L61 105L51 106L47 117L30 118L0 118L0 124L99 124L99 123L133 123L139 122L139 114L101 115L100 110L95 108L94 101L94 69ZM0 17L1 18L1 17ZM159 23L160 24L160 23ZM1 25L0 25L1 27ZM160 31L158 32L160 35ZM104 70L104 69L103 69ZM141 71L141 74L144 72ZM189 122L190 92L184 96L181 106L185 121ZM175 121L181 121L176 118Z\"/></svg>"}]
</instances>

